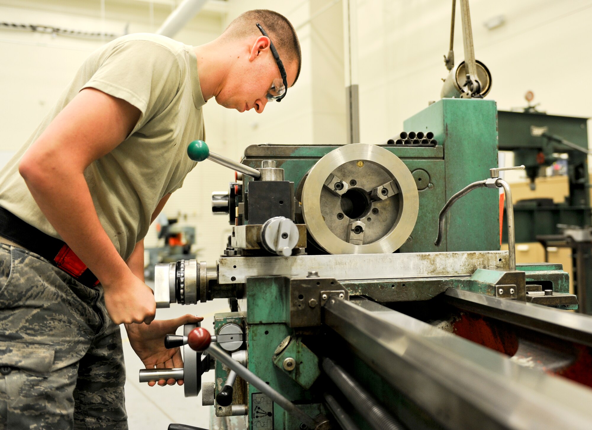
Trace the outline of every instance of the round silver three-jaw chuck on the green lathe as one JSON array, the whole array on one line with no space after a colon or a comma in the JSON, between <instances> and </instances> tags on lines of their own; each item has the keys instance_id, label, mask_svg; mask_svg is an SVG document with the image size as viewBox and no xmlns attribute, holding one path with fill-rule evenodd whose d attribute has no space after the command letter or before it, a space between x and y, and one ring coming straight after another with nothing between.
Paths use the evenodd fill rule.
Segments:
<instances>
[{"instance_id":1,"label":"round silver three-jaw chuck on the green lathe","mask_svg":"<svg viewBox=\"0 0 592 430\"><path fill-rule=\"evenodd\" d=\"M384 254L407 240L417 221L413 175L385 148L350 144L318 160L304 182L308 232L330 254Z\"/></svg>"}]
</instances>

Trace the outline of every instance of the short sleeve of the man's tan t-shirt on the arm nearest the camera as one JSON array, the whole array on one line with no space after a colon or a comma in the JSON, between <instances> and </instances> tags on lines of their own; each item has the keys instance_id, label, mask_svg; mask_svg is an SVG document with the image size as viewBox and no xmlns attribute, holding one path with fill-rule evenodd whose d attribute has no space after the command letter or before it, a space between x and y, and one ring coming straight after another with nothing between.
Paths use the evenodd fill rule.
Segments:
<instances>
[{"instance_id":1,"label":"short sleeve of the man's tan t-shirt on the arm nearest the camera","mask_svg":"<svg viewBox=\"0 0 592 430\"><path fill-rule=\"evenodd\" d=\"M136 132L170 104L180 82L175 53L152 41L131 40L113 47L81 90L95 88L136 106L141 112Z\"/></svg>"}]
</instances>

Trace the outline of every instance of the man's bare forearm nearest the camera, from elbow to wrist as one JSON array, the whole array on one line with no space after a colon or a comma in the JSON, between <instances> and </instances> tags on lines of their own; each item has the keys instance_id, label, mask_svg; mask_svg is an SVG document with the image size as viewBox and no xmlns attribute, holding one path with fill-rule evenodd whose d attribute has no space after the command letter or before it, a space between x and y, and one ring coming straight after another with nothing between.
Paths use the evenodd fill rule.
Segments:
<instances>
[{"instance_id":1,"label":"man's bare forearm nearest the camera, from elbow to wrist","mask_svg":"<svg viewBox=\"0 0 592 430\"><path fill-rule=\"evenodd\" d=\"M104 286L117 282L129 269L99 221L83 173L49 163L43 169L21 169L31 195L50 224L99 281Z\"/></svg>"}]
</instances>

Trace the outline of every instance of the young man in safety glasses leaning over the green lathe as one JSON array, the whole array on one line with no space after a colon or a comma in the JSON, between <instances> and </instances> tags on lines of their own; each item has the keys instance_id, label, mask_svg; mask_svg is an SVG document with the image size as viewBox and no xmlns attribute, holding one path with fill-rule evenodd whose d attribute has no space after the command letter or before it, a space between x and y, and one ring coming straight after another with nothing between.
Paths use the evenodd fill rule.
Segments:
<instances>
[{"instance_id":1,"label":"young man in safety glasses leaning over the green lathe","mask_svg":"<svg viewBox=\"0 0 592 430\"><path fill-rule=\"evenodd\" d=\"M86 60L0 172L0 429L127 429L119 324L147 368L182 366L164 336L201 317L152 321L143 238L195 167L205 102L263 112L300 63L266 10L202 46L134 34Z\"/></svg>"}]
</instances>

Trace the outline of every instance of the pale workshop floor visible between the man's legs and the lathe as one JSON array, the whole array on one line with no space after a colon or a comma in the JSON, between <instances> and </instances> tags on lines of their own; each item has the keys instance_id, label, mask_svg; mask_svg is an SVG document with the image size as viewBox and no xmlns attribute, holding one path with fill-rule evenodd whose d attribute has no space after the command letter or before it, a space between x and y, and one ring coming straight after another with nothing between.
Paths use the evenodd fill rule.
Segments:
<instances>
[{"instance_id":1,"label":"pale workshop floor visible between the man's legs and the lathe","mask_svg":"<svg viewBox=\"0 0 592 430\"><path fill-rule=\"evenodd\" d=\"M150 282L148 284L152 286ZM169 319L185 313L194 313L204 317L202 327L211 332L214 313L218 312L229 312L227 299L193 306L172 305L169 309L157 309L156 318ZM177 334L182 334L182 327ZM182 386L149 387L148 384L139 383L138 371L144 366L131 349L123 325L121 337L126 357L126 408L130 430L166 430L172 422L210 428L210 406L201 406L201 393L198 397L185 397ZM213 371L202 376L202 382L213 380Z\"/></svg>"}]
</instances>

